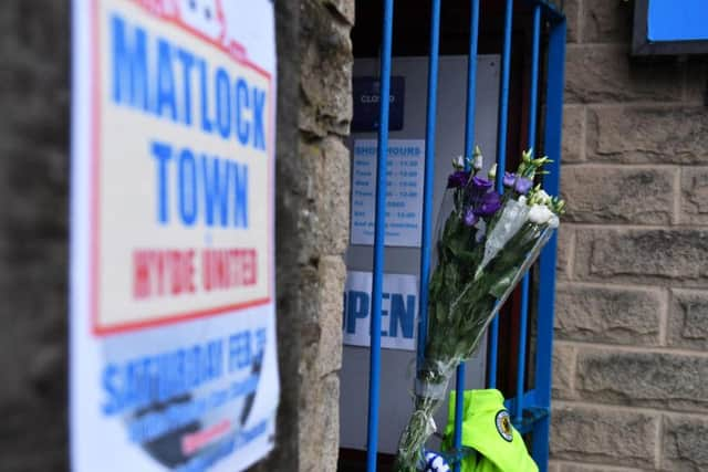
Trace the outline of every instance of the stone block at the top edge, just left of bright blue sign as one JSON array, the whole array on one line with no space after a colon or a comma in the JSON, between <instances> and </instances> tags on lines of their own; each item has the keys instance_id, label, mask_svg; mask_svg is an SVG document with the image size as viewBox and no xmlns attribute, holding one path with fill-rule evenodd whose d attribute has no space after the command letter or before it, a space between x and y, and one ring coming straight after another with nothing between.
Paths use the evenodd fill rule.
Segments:
<instances>
[{"instance_id":1,"label":"stone block at the top edge, just left of bright blue sign","mask_svg":"<svg viewBox=\"0 0 708 472\"><path fill-rule=\"evenodd\" d=\"M584 0L581 21L583 43L631 43L634 20L632 3L616 0Z\"/></svg>"}]
</instances>

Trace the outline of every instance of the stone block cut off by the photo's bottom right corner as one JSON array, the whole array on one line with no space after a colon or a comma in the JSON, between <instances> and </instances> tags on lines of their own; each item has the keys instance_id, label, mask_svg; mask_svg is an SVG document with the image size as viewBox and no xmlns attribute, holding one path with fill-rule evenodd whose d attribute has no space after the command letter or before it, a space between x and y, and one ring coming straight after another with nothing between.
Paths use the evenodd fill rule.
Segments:
<instances>
[{"instance_id":1,"label":"stone block cut off by the photo's bottom right corner","mask_svg":"<svg viewBox=\"0 0 708 472\"><path fill-rule=\"evenodd\" d=\"M662 469L666 471L708 470L708 420L666 417L662 459Z\"/></svg>"}]
</instances>

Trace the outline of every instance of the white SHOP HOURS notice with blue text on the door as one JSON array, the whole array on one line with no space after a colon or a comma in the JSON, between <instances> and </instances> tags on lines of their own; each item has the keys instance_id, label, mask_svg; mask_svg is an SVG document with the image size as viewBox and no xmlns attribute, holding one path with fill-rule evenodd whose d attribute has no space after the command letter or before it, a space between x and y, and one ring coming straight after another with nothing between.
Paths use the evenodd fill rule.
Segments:
<instances>
[{"instance_id":1,"label":"white SHOP HOURS notice with blue text on the door","mask_svg":"<svg viewBox=\"0 0 708 472\"><path fill-rule=\"evenodd\" d=\"M352 244L374 244L375 139L354 141ZM386 174L386 245L420 247L424 139L389 139Z\"/></svg>"}]
</instances>

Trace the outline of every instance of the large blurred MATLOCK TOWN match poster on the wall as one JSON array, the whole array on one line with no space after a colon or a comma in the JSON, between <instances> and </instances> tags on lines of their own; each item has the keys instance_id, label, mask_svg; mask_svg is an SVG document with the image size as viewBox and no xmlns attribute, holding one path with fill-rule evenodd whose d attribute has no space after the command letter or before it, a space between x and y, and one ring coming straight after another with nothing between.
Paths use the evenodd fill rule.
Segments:
<instances>
[{"instance_id":1,"label":"large blurred MATLOCK TOWN match poster on the wall","mask_svg":"<svg viewBox=\"0 0 708 472\"><path fill-rule=\"evenodd\" d=\"M72 470L244 470L279 398L273 6L72 14Z\"/></svg>"}]
</instances>

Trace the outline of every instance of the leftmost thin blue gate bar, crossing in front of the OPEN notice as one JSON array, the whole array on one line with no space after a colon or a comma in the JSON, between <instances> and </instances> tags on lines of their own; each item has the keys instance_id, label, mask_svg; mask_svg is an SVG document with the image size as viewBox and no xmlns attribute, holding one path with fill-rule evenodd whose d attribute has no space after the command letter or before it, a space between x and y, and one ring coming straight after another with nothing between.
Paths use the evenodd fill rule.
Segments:
<instances>
[{"instance_id":1,"label":"leftmost thin blue gate bar, crossing in front of the OPEN notice","mask_svg":"<svg viewBox=\"0 0 708 472\"><path fill-rule=\"evenodd\" d=\"M371 357L368 366L368 417L366 470L376 472L378 449L378 401L381 390L381 308L384 282L384 239L386 234L386 159L388 157L388 105L391 95L391 50L394 1L384 1L381 54L378 149L376 161L376 216L374 233L374 275L372 282Z\"/></svg>"}]
</instances>

